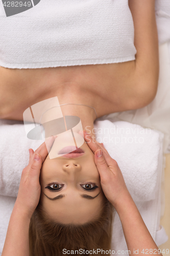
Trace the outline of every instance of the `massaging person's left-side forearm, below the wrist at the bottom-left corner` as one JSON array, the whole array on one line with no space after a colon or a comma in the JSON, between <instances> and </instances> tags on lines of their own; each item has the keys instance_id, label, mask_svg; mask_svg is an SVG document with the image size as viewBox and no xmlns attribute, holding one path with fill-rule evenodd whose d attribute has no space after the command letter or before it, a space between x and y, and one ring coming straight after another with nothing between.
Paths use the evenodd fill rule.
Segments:
<instances>
[{"instance_id":1,"label":"massaging person's left-side forearm, below the wrist at the bottom-left corner","mask_svg":"<svg viewBox=\"0 0 170 256\"><path fill-rule=\"evenodd\" d=\"M30 218L14 205L2 256L29 256Z\"/></svg>"}]
</instances>

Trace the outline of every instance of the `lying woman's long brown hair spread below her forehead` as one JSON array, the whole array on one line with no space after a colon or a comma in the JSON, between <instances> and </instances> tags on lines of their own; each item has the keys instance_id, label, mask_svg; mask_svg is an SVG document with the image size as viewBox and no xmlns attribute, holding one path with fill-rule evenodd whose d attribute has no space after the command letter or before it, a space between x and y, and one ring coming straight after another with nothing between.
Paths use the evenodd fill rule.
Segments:
<instances>
[{"instance_id":1,"label":"lying woman's long brown hair spread below her forehead","mask_svg":"<svg viewBox=\"0 0 170 256\"><path fill-rule=\"evenodd\" d=\"M84 250L81 254L88 254L89 250L109 250L111 223L112 205L106 198L98 220L82 225L62 224L51 220L39 202L30 223L30 256L63 256L63 249L70 253L74 250L77 255L80 255L80 249Z\"/></svg>"}]
</instances>

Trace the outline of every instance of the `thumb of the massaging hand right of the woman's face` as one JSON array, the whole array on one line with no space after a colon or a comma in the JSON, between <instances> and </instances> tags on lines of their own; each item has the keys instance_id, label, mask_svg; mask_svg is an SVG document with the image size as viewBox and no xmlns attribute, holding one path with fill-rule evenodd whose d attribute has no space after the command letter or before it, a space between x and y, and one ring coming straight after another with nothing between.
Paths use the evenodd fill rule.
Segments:
<instances>
[{"instance_id":1,"label":"thumb of the massaging hand right of the woman's face","mask_svg":"<svg viewBox=\"0 0 170 256\"><path fill-rule=\"evenodd\" d=\"M108 171L109 167L107 165L106 159L105 159L101 149L95 151L94 161L95 161L95 165L98 168L100 175L102 175Z\"/></svg>"}]
</instances>

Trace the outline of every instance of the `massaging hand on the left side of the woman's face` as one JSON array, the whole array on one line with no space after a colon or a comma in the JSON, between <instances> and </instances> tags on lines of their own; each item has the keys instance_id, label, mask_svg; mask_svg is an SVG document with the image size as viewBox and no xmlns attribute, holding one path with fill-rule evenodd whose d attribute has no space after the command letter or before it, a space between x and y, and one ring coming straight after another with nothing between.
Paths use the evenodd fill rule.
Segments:
<instances>
[{"instance_id":1,"label":"massaging hand on the left side of the woman's face","mask_svg":"<svg viewBox=\"0 0 170 256\"><path fill-rule=\"evenodd\" d=\"M40 198L40 169L54 143L55 138L56 136L50 137L50 139L42 143L35 152L30 149L29 164L22 170L14 208L17 208L21 213L27 215L29 218L31 218Z\"/></svg>"}]
</instances>

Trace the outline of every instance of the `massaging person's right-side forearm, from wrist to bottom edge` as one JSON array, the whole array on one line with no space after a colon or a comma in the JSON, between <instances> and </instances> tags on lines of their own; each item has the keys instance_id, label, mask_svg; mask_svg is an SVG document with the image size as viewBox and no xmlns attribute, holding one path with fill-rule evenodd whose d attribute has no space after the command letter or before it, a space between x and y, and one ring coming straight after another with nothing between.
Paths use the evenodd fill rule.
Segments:
<instances>
[{"instance_id":1,"label":"massaging person's right-side forearm, from wrist to bottom edge","mask_svg":"<svg viewBox=\"0 0 170 256\"><path fill-rule=\"evenodd\" d=\"M122 222L124 235L130 255L162 255L158 253L158 247L155 244L148 228L145 226L141 215L132 199L128 194L121 202L115 206ZM144 252L144 253L143 253Z\"/></svg>"}]
</instances>

